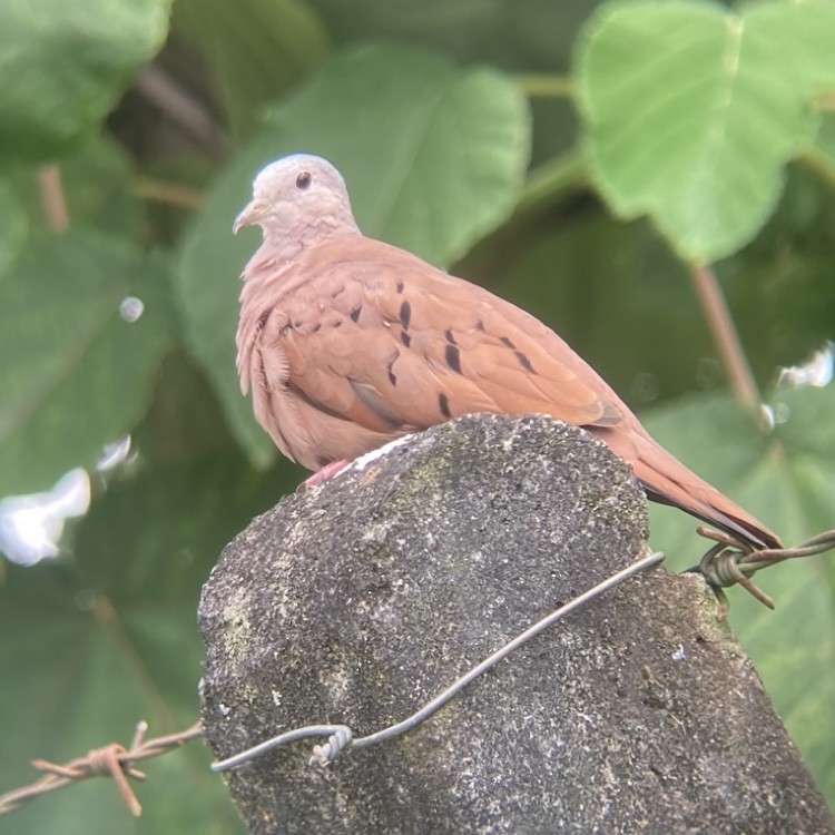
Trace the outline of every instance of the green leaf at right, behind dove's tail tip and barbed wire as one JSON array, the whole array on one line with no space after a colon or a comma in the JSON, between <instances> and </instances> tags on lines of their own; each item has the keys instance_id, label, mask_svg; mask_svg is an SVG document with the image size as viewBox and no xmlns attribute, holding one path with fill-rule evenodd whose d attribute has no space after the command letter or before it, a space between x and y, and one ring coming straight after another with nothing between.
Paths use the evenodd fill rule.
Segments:
<instances>
[{"instance_id":1,"label":"green leaf at right, behind dove's tail tip and barbed wire","mask_svg":"<svg viewBox=\"0 0 835 835\"><path fill-rule=\"evenodd\" d=\"M785 423L757 430L735 402L704 397L658 410L645 425L681 461L795 544L835 527L835 386L779 392ZM696 468L695 464L698 463ZM650 538L670 568L698 562L707 542L696 523L654 508ZM730 622L763 677L822 790L835 803L835 571L833 553L759 572L766 609L740 588L728 590Z\"/></svg>"}]
</instances>

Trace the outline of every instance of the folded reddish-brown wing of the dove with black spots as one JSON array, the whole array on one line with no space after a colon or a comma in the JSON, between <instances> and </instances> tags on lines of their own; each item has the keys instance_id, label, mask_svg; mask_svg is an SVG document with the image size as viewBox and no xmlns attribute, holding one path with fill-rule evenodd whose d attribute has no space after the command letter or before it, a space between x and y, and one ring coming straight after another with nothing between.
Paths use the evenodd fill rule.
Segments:
<instances>
[{"instance_id":1,"label":"folded reddish-brown wing of the dove with black spots","mask_svg":"<svg viewBox=\"0 0 835 835\"><path fill-rule=\"evenodd\" d=\"M314 247L265 301L255 376L301 401L308 422L394 438L472 412L621 420L554 333L395 247L358 236Z\"/></svg>"}]
</instances>

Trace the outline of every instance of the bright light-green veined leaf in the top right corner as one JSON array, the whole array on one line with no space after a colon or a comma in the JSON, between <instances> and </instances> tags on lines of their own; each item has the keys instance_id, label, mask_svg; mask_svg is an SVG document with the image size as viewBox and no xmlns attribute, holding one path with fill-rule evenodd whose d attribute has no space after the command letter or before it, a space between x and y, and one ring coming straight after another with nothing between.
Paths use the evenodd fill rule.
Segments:
<instances>
[{"instance_id":1,"label":"bright light-green veined leaf in the top right corner","mask_svg":"<svg viewBox=\"0 0 835 835\"><path fill-rule=\"evenodd\" d=\"M649 215L687 261L734 253L814 140L833 42L829 2L602 7L577 60L598 188L620 216Z\"/></svg>"}]
</instances>

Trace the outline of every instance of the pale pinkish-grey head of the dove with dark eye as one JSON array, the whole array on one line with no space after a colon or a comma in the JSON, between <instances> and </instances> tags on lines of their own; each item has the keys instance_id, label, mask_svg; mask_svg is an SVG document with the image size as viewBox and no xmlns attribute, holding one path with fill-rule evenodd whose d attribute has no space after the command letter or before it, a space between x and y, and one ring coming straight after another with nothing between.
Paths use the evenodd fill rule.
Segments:
<instances>
[{"instance_id":1,"label":"pale pinkish-grey head of the dove with dark eye","mask_svg":"<svg viewBox=\"0 0 835 835\"><path fill-rule=\"evenodd\" d=\"M253 199L235 218L233 232L253 224L275 243L358 232L342 175L310 154L283 157L258 171Z\"/></svg>"}]
</instances>

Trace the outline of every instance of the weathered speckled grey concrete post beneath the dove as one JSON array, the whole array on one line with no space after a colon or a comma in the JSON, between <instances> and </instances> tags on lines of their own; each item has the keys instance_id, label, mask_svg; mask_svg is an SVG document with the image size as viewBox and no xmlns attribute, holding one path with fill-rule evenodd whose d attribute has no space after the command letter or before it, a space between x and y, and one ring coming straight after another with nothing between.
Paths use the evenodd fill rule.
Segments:
<instances>
[{"instance_id":1,"label":"weathered speckled grey concrete post beneath the dove","mask_svg":"<svg viewBox=\"0 0 835 835\"><path fill-rule=\"evenodd\" d=\"M629 469L544 418L465 418L284 499L204 590L218 757L399 721L646 552ZM777 617L777 616L775 616ZM396 740L229 773L253 833L832 833L698 577L664 569L551 627Z\"/></svg>"}]
</instances>

